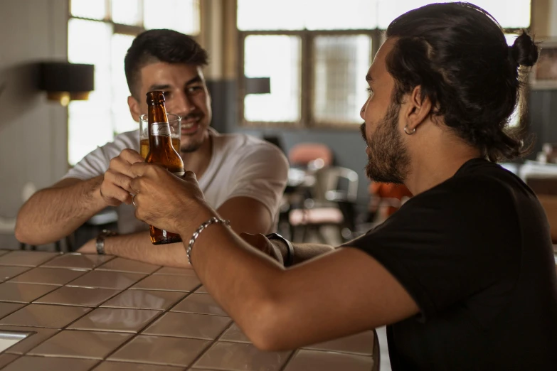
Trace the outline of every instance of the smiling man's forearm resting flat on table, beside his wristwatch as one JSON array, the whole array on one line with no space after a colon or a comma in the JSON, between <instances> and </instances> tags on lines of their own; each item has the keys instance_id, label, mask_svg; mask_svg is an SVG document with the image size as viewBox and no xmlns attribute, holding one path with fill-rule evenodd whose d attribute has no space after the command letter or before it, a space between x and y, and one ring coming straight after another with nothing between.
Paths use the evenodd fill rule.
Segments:
<instances>
[{"instance_id":1,"label":"smiling man's forearm resting flat on table, beside his wristwatch","mask_svg":"<svg viewBox=\"0 0 557 371\"><path fill-rule=\"evenodd\" d=\"M107 237L105 239L105 253L166 267L191 267L188 263L184 244L154 245L149 238L149 232Z\"/></svg>"}]
</instances>

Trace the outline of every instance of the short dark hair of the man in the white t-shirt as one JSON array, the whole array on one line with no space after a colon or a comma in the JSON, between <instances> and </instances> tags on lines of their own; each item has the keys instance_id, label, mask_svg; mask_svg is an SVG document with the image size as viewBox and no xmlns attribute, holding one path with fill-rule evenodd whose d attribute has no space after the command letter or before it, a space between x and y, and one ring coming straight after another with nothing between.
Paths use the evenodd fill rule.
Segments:
<instances>
[{"instance_id":1,"label":"short dark hair of the man in the white t-shirt","mask_svg":"<svg viewBox=\"0 0 557 371\"><path fill-rule=\"evenodd\" d=\"M187 63L203 66L208 55L191 36L172 30L149 30L134 39L124 58L129 92L139 99L139 71L155 62Z\"/></svg>"}]
</instances>

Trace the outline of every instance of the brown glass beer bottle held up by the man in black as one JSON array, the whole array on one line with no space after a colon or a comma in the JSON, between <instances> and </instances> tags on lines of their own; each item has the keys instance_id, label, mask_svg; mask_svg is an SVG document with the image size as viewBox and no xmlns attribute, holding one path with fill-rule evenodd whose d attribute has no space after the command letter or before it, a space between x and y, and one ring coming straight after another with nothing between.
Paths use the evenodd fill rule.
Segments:
<instances>
[{"instance_id":1,"label":"brown glass beer bottle held up by the man in black","mask_svg":"<svg viewBox=\"0 0 557 371\"><path fill-rule=\"evenodd\" d=\"M164 107L164 95L162 92L147 93L148 122L149 122L149 152L145 162L157 163L177 176L184 175L184 161L172 146L170 137L170 126L166 117ZM151 242L153 244L171 244L181 242L177 233L159 230L149 225L151 231Z\"/></svg>"}]
</instances>

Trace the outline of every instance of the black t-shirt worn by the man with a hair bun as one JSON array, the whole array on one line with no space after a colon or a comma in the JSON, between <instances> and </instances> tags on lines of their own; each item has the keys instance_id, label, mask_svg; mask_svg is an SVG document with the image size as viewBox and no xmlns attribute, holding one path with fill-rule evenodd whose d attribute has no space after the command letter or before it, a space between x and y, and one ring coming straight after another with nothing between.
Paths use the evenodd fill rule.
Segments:
<instances>
[{"instance_id":1,"label":"black t-shirt worn by the man with a hair bun","mask_svg":"<svg viewBox=\"0 0 557 371\"><path fill-rule=\"evenodd\" d=\"M557 279L546 215L483 159L348 242L404 286L420 314L388 326L394 371L557 370Z\"/></svg>"}]
</instances>

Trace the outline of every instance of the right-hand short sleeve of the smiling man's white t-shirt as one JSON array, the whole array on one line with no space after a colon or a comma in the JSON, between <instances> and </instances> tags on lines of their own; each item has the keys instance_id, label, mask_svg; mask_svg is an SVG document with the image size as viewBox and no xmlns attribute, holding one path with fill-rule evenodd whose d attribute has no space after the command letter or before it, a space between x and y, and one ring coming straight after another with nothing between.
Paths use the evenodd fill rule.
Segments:
<instances>
[{"instance_id":1,"label":"right-hand short sleeve of the smiling man's white t-shirt","mask_svg":"<svg viewBox=\"0 0 557 371\"><path fill-rule=\"evenodd\" d=\"M287 178L288 161L279 149L266 143L250 146L250 150L235 164L229 185L232 192L228 199L250 197L258 200L274 219Z\"/></svg>"}]
</instances>

